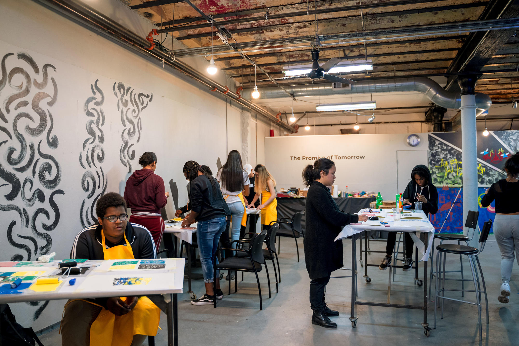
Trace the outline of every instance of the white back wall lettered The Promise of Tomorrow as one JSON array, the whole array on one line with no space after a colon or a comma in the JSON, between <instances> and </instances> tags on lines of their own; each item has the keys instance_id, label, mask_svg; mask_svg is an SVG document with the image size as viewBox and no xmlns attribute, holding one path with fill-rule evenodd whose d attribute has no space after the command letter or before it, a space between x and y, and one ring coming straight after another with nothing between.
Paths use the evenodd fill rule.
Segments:
<instances>
[{"instance_id":1,"label":"white back wall lettered The Promise of Tomorrow","mask_svg":"<svg viewBox=\"0 0 519 346\"><path fill-rule=\"evenodd\" d=\"M385 199L394 199L397 192L397 151L428 149L427 134L418 134L420 144L410 147L407 134L286 136L265 139L265 166L281 188L303 188L301 173L315 159L327 157L334 161L335 184L339 190L380 192ZM354 156L338 159L337 156ZM291 156L300 159L291 158ZM364 158L357 158L364 156ZM424 161L427 162L427 156ZM411 174L411 172L409 172ZM366 190L367 189L367 190Z\"/></svg>"}]
</instances>

